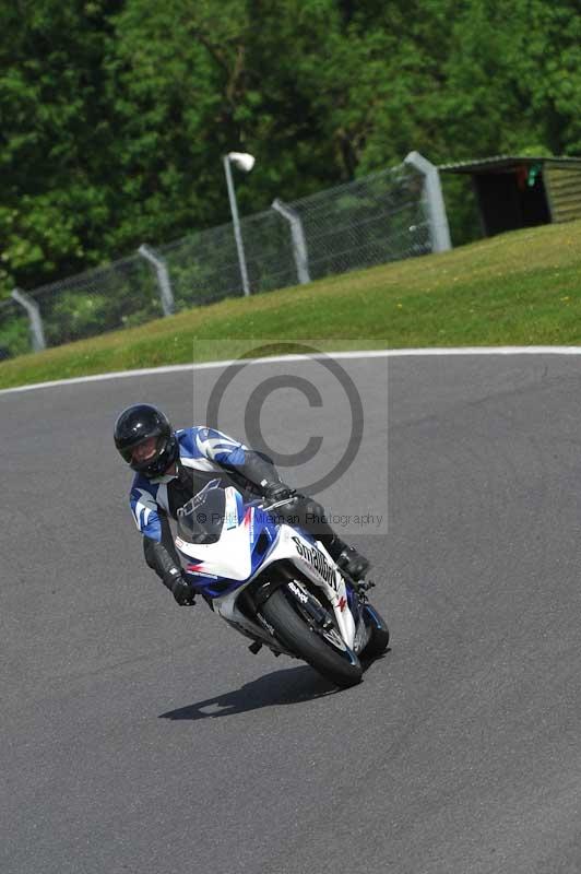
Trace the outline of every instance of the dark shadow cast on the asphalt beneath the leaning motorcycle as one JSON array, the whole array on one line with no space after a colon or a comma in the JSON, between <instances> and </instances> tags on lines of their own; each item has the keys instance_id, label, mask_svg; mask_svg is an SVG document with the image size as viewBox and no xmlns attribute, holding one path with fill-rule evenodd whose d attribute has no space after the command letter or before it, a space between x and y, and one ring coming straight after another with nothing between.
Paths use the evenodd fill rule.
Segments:
<instances>
[{"instance_id":1,"label":"dark shadow cast on the asphalt beneath the leaning motorcycle","mask_svg":"<svg viewBox=\"0 0 581 874\"><path fill-rule=\"evenodd\" d=\"M367 671L374 661L378 661L378 659L361 660L364 671ZM341 692L344 693L333 683L316 674L311 668L301 665L300 668L274 671L272 674L265 674L250 683L245 683L241 688L225 692L214 698L195 701L177 710L159 713L159 719L194 721L232 717L237 713L247 713L250 710L260 710L262 707L304 704Z\"/></svg>"}]
</instances>

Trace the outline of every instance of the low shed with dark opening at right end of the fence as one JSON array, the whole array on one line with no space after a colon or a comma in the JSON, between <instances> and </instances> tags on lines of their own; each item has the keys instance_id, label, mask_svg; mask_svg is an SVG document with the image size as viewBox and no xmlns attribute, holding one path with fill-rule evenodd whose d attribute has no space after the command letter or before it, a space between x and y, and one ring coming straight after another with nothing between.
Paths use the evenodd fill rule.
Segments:
<instances>
[{"instance_id":1,"label":"low shed with dark opening at right end of the fence","mask_svg":"<svg viewBox=\"0 0 581 874\"><path fill-rule=\"evenodd\" d=\"M472 177L487 237L581 218L581 157L497 155L438 169Z\"/></svg>"}]
</instances>

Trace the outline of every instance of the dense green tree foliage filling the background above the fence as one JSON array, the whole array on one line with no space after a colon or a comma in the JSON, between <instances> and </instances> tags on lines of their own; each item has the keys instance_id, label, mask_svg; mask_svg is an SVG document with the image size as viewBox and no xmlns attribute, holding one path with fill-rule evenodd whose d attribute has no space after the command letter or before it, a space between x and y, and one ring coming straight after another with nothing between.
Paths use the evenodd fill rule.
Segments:
<instances>
[{"instance_id":1,"label":"dense green tree foliage filling the background above the fence","mask_svg":"<svg viewBox=\"0 0 581 874\"><path fill-rule=\"evenodd\" d=\"M399 163L581 154L579 0L0 0L0 296Z\"/></svg>"}]
</instances>

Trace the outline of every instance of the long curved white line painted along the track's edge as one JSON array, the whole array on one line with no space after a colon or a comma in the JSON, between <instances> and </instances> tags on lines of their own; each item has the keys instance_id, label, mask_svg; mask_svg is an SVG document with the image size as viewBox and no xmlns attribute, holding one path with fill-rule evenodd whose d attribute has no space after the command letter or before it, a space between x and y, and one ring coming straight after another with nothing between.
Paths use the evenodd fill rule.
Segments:
<instances>
[{"instance_id":1,"label":"long curved white line painted along the track's edge","mask_svg":"<svg viewBox=\"0 0 581 874\"><path fill-rule=\"evenodd\" d=\"M250 358L248 365L275 364L281 362L310 361L316 358L404 358L424 356L448 355L581 355L581 346L459 346L432 349L383 349L365 350L359 352L321 352L320 355L272 355L266 358ZM15 391L36 391L37 389L55 388L56 386L75 386L81 382L102 382L107 379L130 379L139 376L157 376L163 374L179 374L187 370L210 370L216 367L228 367L239 364L240 359L222 362L197 362L195 364L174 364L165 367L144 367L138 370L117 370L110 374L93 374L78 376L71 379L55 379L47 382L34 382L31 386L14 386L10 389L0 389L0 394L10 394Z\"/></svg>"}]
</instances>

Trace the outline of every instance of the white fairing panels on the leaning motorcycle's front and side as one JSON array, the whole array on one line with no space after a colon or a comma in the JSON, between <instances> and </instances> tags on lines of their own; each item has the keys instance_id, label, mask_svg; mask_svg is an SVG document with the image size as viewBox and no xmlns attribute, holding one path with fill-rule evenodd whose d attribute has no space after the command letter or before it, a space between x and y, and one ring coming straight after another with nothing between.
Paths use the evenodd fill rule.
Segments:
<instances>
[{"instance_id":1,"label":"white fairing panels on the leaning motorcycle's front and side","mask_svg":"<svg viewBox=\"0 0 581 874\"><path fill-rule=\"evenodd\" d=\"M203 576L216 576L217 578L232 580L246 579L248 584L259 572L262 572L275 562L292 562L301 574L324 592L325 598L333 607L344 642L347 647L354 649L356 629L353 614L347 603L345 581L324 546L319 541L312 544L296 529L282 524L268 557L256 572L250 576L252 569L251 532L254 509L250 508L244 521L238 524L235 489L226 488L225 492L226 512L222 533L216 543L189 544L181 538L176 538L176 546L182 556L185 567L188 567L188 558L190 562L198 559L201 565L203 564L203 571L200 571ZM189 572L195 574L195 570L192 571L190 569ZM214 611L226 622L235 625L242 634L248 634L251 637L260 636L265 642L272 645L273 631L269 631L266 626L261 627L250 622L237 609L236 600L244 588L246 587L240 587L234 592L214 599ZM280 646L275 648L280 649Z\"/></svg>"}]
</instances>

